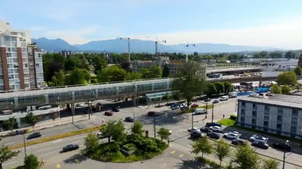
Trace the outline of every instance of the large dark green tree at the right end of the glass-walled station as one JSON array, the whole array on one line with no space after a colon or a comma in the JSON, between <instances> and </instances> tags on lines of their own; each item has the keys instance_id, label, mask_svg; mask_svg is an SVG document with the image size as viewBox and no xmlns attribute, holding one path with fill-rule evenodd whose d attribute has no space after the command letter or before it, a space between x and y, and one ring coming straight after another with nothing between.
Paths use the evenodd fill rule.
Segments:
<instances>
[{"instance_id":1,"label":"large dark green tree at the right end of the glass-walled station","mask_svg":"<svg viewBox=\"0 0 302 169\"><path fill-rule=\"evenodd\" d=\"M183 63L171 84L172 90L178 90L180 95L187 100L188 106L194 96L201 95L203 92L205 83L204 79L197 74L199 69L199 63Z\"/></svg>"}]
</instances>

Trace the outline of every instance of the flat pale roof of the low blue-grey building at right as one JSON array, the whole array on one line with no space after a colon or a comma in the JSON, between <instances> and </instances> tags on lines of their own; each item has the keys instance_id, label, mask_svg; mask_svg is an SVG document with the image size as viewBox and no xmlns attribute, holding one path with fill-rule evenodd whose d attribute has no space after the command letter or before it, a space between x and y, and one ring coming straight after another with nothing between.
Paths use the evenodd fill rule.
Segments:
<instances>
[{"instance_id":1,"label":"flat pale roof of the low blue-grey building at right","mask_svg":"<svg viewBox=\"0 0 302 169\"><path fill-rule=\"evenodd\" d=\"M301 108L302 96L272 94L270 96L245 96L238 101L257 102L263 104L279 105L284 107Z\"/></svg>"}]
</instances>

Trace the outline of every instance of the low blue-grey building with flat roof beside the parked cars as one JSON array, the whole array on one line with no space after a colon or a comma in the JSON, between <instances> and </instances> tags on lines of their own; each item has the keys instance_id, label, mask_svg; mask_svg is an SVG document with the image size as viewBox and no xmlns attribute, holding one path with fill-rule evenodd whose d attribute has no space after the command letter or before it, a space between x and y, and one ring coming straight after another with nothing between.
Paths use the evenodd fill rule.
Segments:
<instances>
[{"instance_id":1,"label":"low blue-grey building with flat roof beside the parked cars","mask_svg":"<svg viewBox=\"0 0 302 169\"><path fill-rule=\"evenodd\" d=\"M237 125L302 138L302 96L246 96L238 99Z\"/></svg>"}]
</instances>

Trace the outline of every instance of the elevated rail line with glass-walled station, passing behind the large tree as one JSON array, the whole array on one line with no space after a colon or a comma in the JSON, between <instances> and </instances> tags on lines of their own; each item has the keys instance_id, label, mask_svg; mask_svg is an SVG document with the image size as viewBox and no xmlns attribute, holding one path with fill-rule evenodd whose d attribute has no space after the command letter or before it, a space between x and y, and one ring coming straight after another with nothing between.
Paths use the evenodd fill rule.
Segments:
<instances>
[{"instance_id":1,"label":"elevated rail line with glass-walled station, passing behind the large tree","mask_svg":"<svg viewBox=\"0 0 302 169\"><path fill-rule=\"evenodd\" d=\"M302 79L301 76L297 79ZM207 79L208 82L256 82L274 81L277 77L249 77L234 79ZM86 84L76 86L59 86L37 88L0 93L0 111L19 109L26 106L47 104L68 104L87 101L88 99L104 99L122 97L124 95L143 95L146 93L171 90L172 79L147 79L103 84ZM134 99L135 100L135 99Z\"/></svg>"}]
</instances>

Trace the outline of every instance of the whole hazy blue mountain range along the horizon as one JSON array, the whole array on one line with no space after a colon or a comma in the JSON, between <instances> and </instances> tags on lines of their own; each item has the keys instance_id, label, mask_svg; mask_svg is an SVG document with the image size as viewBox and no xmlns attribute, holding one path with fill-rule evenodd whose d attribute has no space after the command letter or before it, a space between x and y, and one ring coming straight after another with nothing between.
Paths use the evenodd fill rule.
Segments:
<instances>
[{"instance_id":1,"label":"whole hazy blue mountain range along the horizon","mask_svg":"<svg viewBox=\"0 0 302 169\"><path fill-rule=\"evenodd\" d=\"M72 51L108 51L108 52L127 52L128 40L119 38L104 41L91 41L85 44L71 45L62 39L50 40L46 38L32 39L40 48L49 52L58 52L61 50ZM155 42L145 40L130 40L131 52L147 52L155 53ZM158 52L189 52L193 53L218 53L218 52L239 52L239 51L261 51L275 50L271 47L261 46L245 46L245 45L229 45L216 43L196 43L195 47L186 47L186 44L168 45L158 43ZM276 49L277 50L277 49Z\"/></svg>"}]
</instances>

